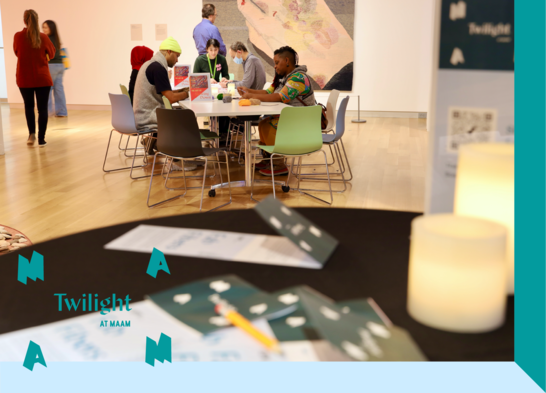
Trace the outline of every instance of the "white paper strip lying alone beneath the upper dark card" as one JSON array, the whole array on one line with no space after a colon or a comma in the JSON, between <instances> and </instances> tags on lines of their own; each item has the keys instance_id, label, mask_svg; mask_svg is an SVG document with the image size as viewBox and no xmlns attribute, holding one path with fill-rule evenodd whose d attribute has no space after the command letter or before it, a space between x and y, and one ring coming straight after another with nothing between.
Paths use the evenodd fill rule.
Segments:
<instances>
[{"instance_id":1,"label":"white paper strip lying alone beneath the upper dark card","mask_svg":"<svg viewBox=\"0 0 546 393\"><path fill-rule=\"evenodd\" d=\"M322 265L283 236L139 225L104 246L107 250L321 269Z\"/></svg>"}]
</instances>

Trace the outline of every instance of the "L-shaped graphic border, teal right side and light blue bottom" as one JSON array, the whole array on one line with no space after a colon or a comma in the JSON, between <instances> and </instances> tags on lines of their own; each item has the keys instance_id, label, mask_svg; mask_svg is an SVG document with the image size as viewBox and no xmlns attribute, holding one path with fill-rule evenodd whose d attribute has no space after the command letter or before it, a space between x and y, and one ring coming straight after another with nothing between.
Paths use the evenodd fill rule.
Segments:
<instances>
[{"instance_id":1,"label":"L-shaped graphic border, teal right side and light blue bottom","mask_svg":"<svg viewBox=\"0 0 546 393\"><path fill-rule=\"evenodd\" d=\"M542 392L546 389L546 1L516 0L516 363L0 363L0 392ZM521 366L521 368L518 367ZM525 371L523 371L525 370ZM533 382L527 374L537 383Z\"/></svg>"}]
</instances>

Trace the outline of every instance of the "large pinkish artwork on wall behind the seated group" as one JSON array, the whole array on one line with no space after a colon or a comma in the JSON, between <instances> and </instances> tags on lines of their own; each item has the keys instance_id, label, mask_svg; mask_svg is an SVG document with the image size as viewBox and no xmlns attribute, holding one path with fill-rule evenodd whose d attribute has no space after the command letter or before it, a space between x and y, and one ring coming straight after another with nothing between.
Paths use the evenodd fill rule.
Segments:
<instances>
[{"instance_id":1,"label":"large pinkish artwork on wall behind the seated group","mask_svg":"<svg viewBox=\"0 0 546 393\"><path fill-rule=\"evenodd\" d=\"M244 43L258 56L267 80L274 76L273 52L289 45L306 65L316 90L353 87L354 0L204 0L213 3L215 25L226 47ZM242 77L228 56L230 72Z\"/></svg>"}]
</instances>

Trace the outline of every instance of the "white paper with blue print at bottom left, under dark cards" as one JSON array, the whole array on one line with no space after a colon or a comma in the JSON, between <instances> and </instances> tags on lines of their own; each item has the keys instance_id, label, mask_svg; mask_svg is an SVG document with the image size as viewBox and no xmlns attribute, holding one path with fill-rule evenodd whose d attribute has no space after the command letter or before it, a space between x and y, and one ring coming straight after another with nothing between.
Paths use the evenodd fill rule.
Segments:
<instances>
[{"instance_id":1,"label":"white paper with blue print at bottom left, under dark cards","mask_svg":"<svg viewBox=\"0 0 546 393\"><path fill-rule=\"evenodd\" d=\"M316 361L310 345L289 345L287 353L275 354L236 327L200 335L163 311L152 301L130 304L131 311L107 315L90 313L0 335L0 361L23 362L29 341L40 345L50 361L144 361L146 337L158 342L161 333L172 340L173 361ZM130 327L100 327L101 320L130 320ZM253 321L274 336L265 319ZM282 343L284 345L285 343ZM284 348L284 347L282 347Z\"/></svg>"}]
</instances>

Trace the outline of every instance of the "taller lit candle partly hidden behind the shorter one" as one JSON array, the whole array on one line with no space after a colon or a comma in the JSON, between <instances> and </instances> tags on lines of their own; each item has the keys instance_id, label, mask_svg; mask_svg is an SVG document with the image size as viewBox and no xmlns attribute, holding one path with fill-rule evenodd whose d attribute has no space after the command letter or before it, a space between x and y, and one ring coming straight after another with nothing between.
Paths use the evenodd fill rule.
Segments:
<instances>
[{"instance_id":1,"label":"taller lit candle partly hidden behind the shorter one","mask_svg":"<svg viewBox=\"0 0 546 393\"><path fill-rule=\"evenodd\" d=\"M460 147L454 212L507 227L506 289L514 293L513 144L477 143Z\"/></svg>"}]
</instances>

